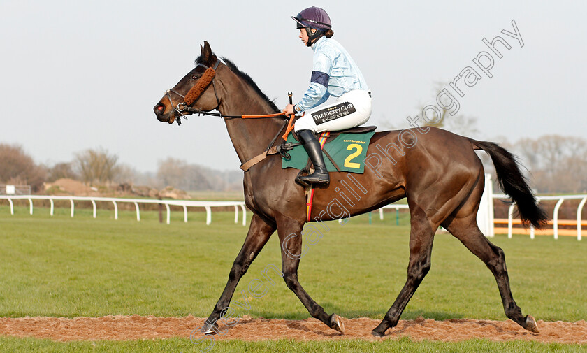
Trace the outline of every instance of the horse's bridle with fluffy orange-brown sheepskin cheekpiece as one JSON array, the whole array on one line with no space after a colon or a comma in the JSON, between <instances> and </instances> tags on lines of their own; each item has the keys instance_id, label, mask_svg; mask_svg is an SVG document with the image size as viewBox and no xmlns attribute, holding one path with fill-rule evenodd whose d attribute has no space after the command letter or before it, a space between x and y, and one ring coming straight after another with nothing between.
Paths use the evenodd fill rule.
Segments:
<instances>
[{"instance_id":1,"label":"horse's bridle with fluffy orange-brown sheepskin cheekpiece","mask_svg":"<svg viewBox=\"0 0 587 353\"><path fill-rule=\"evenodd\" d=\"M216 69L218 68L219 64L220 60L216 60L216 63L212 68L202 63L198 63L198 66L202 66L206 69L206 71L204 71L196 85L194 85L194 87L191 87L191 89L189 89L189 92L187 92L185 96L175 91L173 88L170 88L166 91L167 98L169 99L169 103L172 107L173 101L171 100L171 92L177 94L178 96L184 99L184 101L178 103L177 106L173 108L173 110L175 111L175 121L177 121L178 125L182 124L182 117L186 117L187 115L192 115L196 113L205 113L203 110L191 108L191 105L194 103L194 101L196 101L196 99L200 98L200 96L205 92L206 89L208 89L210 83L212 84L212 87L214 87L214 95L216 96L217 106L215 109L217 109L220 106L220 101L218 99L218 94L216 92L216 84L214 82L214 78L216 76Z\"/></svg>"}]
</instances>

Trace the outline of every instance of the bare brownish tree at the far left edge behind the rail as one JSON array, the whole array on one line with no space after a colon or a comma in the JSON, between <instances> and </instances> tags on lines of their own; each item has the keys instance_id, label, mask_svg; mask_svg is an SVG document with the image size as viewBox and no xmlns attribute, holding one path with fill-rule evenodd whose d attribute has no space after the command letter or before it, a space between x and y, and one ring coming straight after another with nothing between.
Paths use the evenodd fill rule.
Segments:
<instances>
[{"instance_id":1,"label":"bare brownish tree at the far left edge behind the rail","mask_svg":"<svg viewBox=\"0 0 587 353\"><path fill-rule=\"evenodd\" d=\"M0 143L0 182L31 185L34 192L43 189L46 171L22 150L20 145Z\"/></svg>"}]
</instances>

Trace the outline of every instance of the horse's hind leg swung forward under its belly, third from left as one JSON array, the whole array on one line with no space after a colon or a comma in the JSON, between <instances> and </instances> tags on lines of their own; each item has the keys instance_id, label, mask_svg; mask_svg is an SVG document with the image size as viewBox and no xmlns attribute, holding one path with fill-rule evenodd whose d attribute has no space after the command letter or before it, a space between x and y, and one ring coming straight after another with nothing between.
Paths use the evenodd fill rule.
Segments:
<instances>
[{"instance_id":1,"label":"horse's hind leg swung forward under its belly, third from left","mask_svg":"<svg viewBox=\"0 0 587 353\"><path fill-rule=\"evenodd\" d=\"M387 329L398 324L407 302L430 270L430 255L434 240L433 227L420 208L412 210L410 222L410 264L407 266L407 280L382 322L371 332L373 336L385 336Z\"/></svg>"}]
</instances>

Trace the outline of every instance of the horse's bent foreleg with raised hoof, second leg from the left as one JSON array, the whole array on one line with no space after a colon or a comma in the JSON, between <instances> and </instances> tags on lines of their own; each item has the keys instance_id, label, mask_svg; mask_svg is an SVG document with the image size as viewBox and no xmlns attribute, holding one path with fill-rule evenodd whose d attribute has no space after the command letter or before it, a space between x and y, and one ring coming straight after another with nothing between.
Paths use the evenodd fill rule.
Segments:
<instances>
[{"instance_id":1,"label":"horse's bent foreleg with raised hoof, second leg from the left","mask_svg":"<svg viewBox=\"0 0 587 353\"><path fill-rule=\"evenodd\" d=\"M280 237L282 248L282 272L284 273L285 284L293 293L298 296L312 317L324 322L331 329L343 332L345 326L338 315L328 315L318 303L314 301L303 289L298 281L298 266L300 259L305 254L302 250L302 229L295 219L284 217L277 222L277 233Z\"/></svg>"}]
</instances>

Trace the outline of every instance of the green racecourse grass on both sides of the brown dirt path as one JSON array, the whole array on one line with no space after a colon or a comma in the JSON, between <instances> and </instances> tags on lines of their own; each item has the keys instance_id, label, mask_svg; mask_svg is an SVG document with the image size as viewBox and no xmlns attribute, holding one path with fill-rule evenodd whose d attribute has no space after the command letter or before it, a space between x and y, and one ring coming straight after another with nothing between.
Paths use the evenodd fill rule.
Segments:
<instances>
[{"instance_id":1,"label":"green racecourse grass on both sides of the brown dirt path","mask_svg":"<svg viewBox=\"0 0 587 353\"><path fill-rule=\"evenodd\" d=\"M17 207L15 215L0 204L0 317L156 315L207 317L226 284L231 264L247 227L234 224L233 212L172 213L171 224L159 224L157 212L136 214L76 208L48 210ZM248 214L250 217L250 213ZM395 226L395 212L383 222L377 214L345 225L327 222L328 231L315 245L306 243L299 278L327 312L343 317L380 319L405 282L408 259L407 216ZM585 242L576 238L497 236L507 258L512 291L525 314L537 319L586 319L587 271ZM280 247L274 235L247 275L235 298L269 264L280 268ZM262 298L250 298L253 317L305 319L298 298L276 276ZM497 285L484 264L455 238L435 238L432 269L416 291L402 318L505 319ZM0 352L195 352L188 340L129 343L52 343L46 340L1 338ZM214 352L379 352L412 347L419 352L578 352L585 346L537 343L385 343L362 341L295 343L269 341L218 342ZM7 350L3 347L11 347ZM36 347L29 349L27 347ZM412 352L407 349L407 352Z\"/></svg>"}]
</instances>

